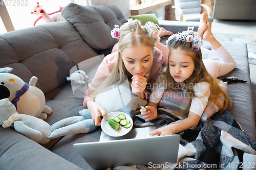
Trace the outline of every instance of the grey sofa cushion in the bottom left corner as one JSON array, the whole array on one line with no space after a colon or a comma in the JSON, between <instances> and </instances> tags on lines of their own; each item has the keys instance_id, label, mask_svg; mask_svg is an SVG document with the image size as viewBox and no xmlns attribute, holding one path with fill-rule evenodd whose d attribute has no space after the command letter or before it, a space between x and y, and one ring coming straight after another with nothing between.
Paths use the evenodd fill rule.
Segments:
<instances>
[{"instance_id":1,"label":"grey sofa cushion in the bottom left corner","mask_svg":"<svg viewBox=\"0 0 256 170\"><path fill-rule=\"evenodd\" d=\"M1 169L81 169L11 128L2 129Z\"/></svg>"}]
</instances>

